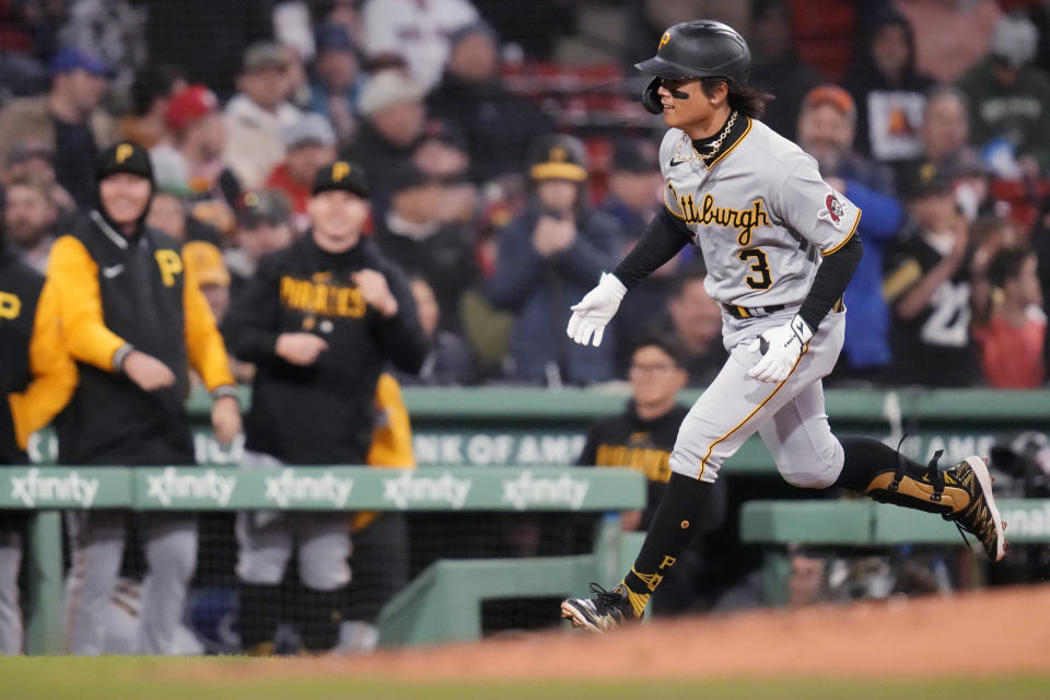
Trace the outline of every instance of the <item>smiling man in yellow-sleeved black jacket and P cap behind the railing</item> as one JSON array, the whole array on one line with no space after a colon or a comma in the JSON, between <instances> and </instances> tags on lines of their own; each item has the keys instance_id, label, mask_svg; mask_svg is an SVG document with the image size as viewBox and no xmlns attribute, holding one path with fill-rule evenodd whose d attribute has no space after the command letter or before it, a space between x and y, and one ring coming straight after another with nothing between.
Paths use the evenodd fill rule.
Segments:
<instances>
[{"instance_id":1,"label":"smiling man in yellow-sleeved black jacket and P cap behind the railing","mask_svg":"<svg viewBox=\"0 0 1050 700\"><path fill-rule=\"evenodd\" d=\"M149 154L120 141L97 161L96 197L81 226L51 248L48 284L59 296L66 345L79 381L58 421L59 464L191 465L183 405L192 365L214 396L215 438L229 444L241 416L226 352L208 302L177 242L147 226L153 190ZM103 650L102 616L120 571L127 513L67 513L72 573L66 648ZM139 653L172 653L197 561L197 522L187 513L140 521L148 571Z\"/></svg>"}]
</instances>

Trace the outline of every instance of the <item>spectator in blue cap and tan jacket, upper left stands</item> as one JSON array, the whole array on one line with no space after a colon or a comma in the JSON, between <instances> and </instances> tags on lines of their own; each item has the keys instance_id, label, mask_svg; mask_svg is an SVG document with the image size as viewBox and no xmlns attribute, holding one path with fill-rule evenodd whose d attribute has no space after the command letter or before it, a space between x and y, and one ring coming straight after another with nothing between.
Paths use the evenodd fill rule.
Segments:
<instances>
[{"instance_id":1,"label":"spectator in blue cap and tan jacket, upper left stands","mask_svg":"<svg viewBox=\"0 0 1050 700\"><path fill-rule=\"evenodd\" d=\"M0 110L0 156L28 139L55 154L57 182L80 207L94 202L94 163L116 139L113 119L100 108L109 67L77 48L51 61L46 95L14 100Z\"/></svg>"}]
</instances>

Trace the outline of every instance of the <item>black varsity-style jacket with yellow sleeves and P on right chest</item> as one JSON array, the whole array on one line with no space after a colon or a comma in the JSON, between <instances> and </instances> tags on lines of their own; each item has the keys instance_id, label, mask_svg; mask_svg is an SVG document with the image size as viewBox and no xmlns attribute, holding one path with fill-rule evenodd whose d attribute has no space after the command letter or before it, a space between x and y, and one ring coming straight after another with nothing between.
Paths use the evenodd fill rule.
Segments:
<instances>
[{"instance_id":1,"label":"black varsity-style jacket with yellow sleeves and P on right chest","mask_svg":"<svg viewBox=\"0 0 1050 700\"><path fill-rule=\"evenodd\" d=\"M96 211L51 248L48 281L80 381L57 422L60 464L194 464L183 401L188 365L232 386L222 337L180 244L149 226L117 232ZM143 392L119 370L129 347L175 373Z\"/></svg>"}]
</instances>

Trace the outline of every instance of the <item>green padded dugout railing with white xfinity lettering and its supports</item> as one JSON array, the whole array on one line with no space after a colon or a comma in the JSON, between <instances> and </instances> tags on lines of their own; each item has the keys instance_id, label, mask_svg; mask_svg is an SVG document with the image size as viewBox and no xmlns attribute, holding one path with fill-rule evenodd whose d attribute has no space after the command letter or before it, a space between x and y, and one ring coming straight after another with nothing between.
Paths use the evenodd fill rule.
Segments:
<instances>
[{"instance_id":1,"label":"green padded dugout railing with white xfinity lettering and its supports","mask_svg":"<svg viewBox=\"0 0 1050 700\"><path fill-rule=\"evenodd\" d=\"M132 511L486 511L606 512L645 503L641 474L616 468L527 467L389 469L353 466L238 468L12 467L0 476L0 509L33 510L26 558L32 606L26 651L62 650L62 542L60 510ZM348 516L349 522L349 516ZM586 591L621 565L618 527L606 527L592 555L478 564L439 561L420 580L417 604L404 596L381 618L385 643L447 641L480 635L477 608L489 597L568 595ZM611 539L610 539L611 537ZM535 564L535 567L534 567ZM474 567L471 569L471 567ZM534 568L533 573L527 573ZM459 583L464 570L474 593ZM526 587L522 587L527 583ZM417 587L419 584L417 584ZM457 596L447 594L456 591ZM388 606L388 607L390 607ZM452 610L458 627L445 629L438 612ZM475 620L474 627L470 621ZM384 626L388 629L384 629ZM464 632L463 630L466 630ZM451 634L451 637L450 637Z\"/></svg>"}]
</instances>

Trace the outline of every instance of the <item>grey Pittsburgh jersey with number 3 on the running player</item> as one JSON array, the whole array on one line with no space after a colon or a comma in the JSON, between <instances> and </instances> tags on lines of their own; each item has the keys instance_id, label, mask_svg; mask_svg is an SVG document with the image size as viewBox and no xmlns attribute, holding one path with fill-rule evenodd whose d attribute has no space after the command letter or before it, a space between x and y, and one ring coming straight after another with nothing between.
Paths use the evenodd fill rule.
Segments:
<instances>
[{"instance_id":1,"label":"grey Pittsburgh jersey with number 3 on the running player","mask_svg":"<svg viewBox=\"0 0 1050 700\"><path fill-rule=\"evenodd\" d=\"M692 232L715 301L802 304L821 255L844 245L861 210L820 178L817 163L761 121L747 119L710 166L689 137L669 129L660 147L664 205Z\"/></svg>"}]
</instances>

